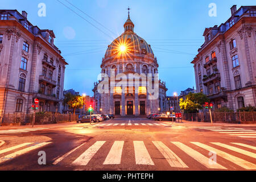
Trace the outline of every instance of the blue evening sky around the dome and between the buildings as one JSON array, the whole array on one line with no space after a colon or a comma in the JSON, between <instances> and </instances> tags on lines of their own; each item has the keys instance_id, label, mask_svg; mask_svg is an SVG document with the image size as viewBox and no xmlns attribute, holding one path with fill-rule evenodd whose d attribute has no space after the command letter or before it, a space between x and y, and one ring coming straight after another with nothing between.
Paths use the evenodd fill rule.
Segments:
<instances>
[{"instance_id":1,"label":"blue evening sky around the dome and between the buildings","mask_svg":"<svg viewBox=\"0 0 256 182\"><path fill-rule=\"evenodd\" d=\"M94 22L65 0L2 0L0 9L25 10L28 20L41 29L55 32L55 45L69 65L65 72L64 89L92 96L93 82L101 72L101 61L108 45L124 31L127 7L135 24L134 31L151 44L159 63L160 79L166 81L167 95L180 93L195 86L191 61L203 44L205 27L224 23L230 17L230 7L255 5L253 0L68 0ZM38 4L46 4L46 16L38 16ZM217 16L208 15L210 3L216 3ZM86 22L86 20L93 23ZM110 31L109 31L110 30ZM182 52L182 53L181 53Z\"/></svg>"}]
</instances>

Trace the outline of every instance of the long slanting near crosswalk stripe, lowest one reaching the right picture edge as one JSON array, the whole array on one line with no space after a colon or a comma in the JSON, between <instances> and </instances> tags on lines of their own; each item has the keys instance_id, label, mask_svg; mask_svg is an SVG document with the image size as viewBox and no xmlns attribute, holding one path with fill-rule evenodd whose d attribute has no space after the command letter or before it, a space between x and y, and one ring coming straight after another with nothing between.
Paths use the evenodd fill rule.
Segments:
<instances>
[{"instance_id":1,"label":"long slanting near crosswalk stripe, lowest one reaching the right picture edge","mask_svg":"<svg viewBox=\"0 0 256 182\"><path fill-rule=\"evenodd\" d=\"M205 150L214 151L214 152L216 152L216 154L218 156L221 156L222 158L224 158L226 160L229 160L230 162L232 162L234 164L237 164L238 166L241 166L242 168L256 169L256 164L253 164L253 163L247 162L246 160L237 158L236 156L230 155L230 154L228 154L224 151L221 151L221 150L218 150L216 148L207 146L206 144L203 144L203 143L200 143L200 142L191 142L191 143L193 143L196 146L199 146L201 148L204 148Z\"/></svg>"}]
</instances>

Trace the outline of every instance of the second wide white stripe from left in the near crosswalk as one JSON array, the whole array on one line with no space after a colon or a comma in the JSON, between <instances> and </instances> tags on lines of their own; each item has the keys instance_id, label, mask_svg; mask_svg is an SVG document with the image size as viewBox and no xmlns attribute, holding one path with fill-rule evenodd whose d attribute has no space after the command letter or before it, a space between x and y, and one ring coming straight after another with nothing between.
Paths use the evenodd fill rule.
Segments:
<instances>
[{"instance_id":1,"label":"second wide white stripe from left in the near crosswalk","mask_svg":"<svg viewBox=\"0 0 256 182\"><path fill-rule=\"evenodd\" d=\"M124 141L115 141L103 164L121 164Z\"/></svg>"}]
</instances>

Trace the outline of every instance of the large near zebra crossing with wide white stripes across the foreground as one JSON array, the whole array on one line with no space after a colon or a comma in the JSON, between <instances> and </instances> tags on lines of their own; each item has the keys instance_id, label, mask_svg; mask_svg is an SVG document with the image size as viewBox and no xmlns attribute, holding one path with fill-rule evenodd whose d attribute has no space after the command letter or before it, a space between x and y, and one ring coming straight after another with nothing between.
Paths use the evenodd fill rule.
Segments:
<instances>
[{"instance_id":1,"label":"large near zebra crossing with wide white stripes across the foreground","mask_svg":"<svg viewBox=\"0 0 256 182\"><path fill-rule=\"evenodd\" d=\"M110 141L109 141L110 142ZM99 158L99 155L102 155L102 151L100 151L101 148L104 148L106 144L110 144L111 148L110 150L106 151L104 154L104 162L102 163L103 166L106 165L118 165L122 164L122 159L125 158L123 155L124 150L130 150L130 152L133 152L134 159L130 159L134 161L134 165L144 165L144 166L155 166L158 159L151 156L151 150L148 150L148 143L145 144L143 141L130 141L130 144L133 145L133 150L131 150L131 147L128 147L128 144L125 143L125 141L114 141L109 143L107 141L96 141L92 145L88 146L89 148L85 151L79 151L79 155L76 154L75 160L72 158L72 154L76 153L76 150L80 147L86 146L87 143L81 144L81 146L67 152L63 156L60 156L59 158L55 158L55 161L53 162L54 165L64 165L64 166L88 166L91 160L97 160ZM200 143L200 142L161 142L161 141L151 141L152 144L155 146L154 150L158 152L160 155L163 156L163 159L167 161L167 163L170 165L171 168L193 168L192 164L187 162L186 159L187 156L184 156L183 152L185 152L185 155L188 155L190 158L195 159L197 163L200 163L207 169L234 169L233 167L230 167L230 164L226 162L222 162L222 159L228 160L231 163L236 164L237 166L240 166L243 169L256 169L256 153L248 150L256 150L255 146L250 146L248 144L244 143L220 143L220 142L209 142L207 144ZM170 147L171 146L171 147ZM212 147L214 146L214 147ZM215 147L216 146L216 147ZM174 152L172 150L172 147L177 147L182 152ZM208 152L213 152L217 155L217 161L210 163L209 158L210 156L207 156L205 152L202 152L199 150L199 148L203 148L203 150L206 150ZM221 149L219 149L221 148ZM223 150L223 148L225 150ZM246 149L243 149L246 148ZM103 149L102 149L103 150ZM105 150L105 148L104 148ZM233 154L230 154L228 151L234 151L237 153L240 153L243 155L234 156ZM151 151L151 152L149 152ZM82 153L81 153L82 152ZM155 153L155 152L154 152ZM70 156L70 157L69 157ZM252 162L247 161L248 158L245 158L246 156L249 156ZM188 160L188 159L187 159ZM102 160L103 161L103 160ZM221 162L218 163L218 162ZM67 164L68 163L68 164ZM193 163L195 164L195 163Z\"/></svg>"}]
</instances>

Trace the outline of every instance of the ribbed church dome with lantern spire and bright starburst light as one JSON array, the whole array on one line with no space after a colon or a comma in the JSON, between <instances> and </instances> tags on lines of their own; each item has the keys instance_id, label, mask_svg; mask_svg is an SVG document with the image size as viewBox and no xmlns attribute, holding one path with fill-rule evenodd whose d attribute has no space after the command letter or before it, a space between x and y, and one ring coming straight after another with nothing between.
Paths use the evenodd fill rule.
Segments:
<instances>
[{"instance_id":1,"label":"ribbed church dome with lantern spire and bright starburst light","mask_svg":"<svg viewBox=\"0 0 256 182\"><path fill-rule=\"evenodd\" d=\"M130 15L128 15L128 19L123 27L125 28L125 32L108 46L105 58L116 56L121 52L126 52L127 55L134 55L135 53L143 54L154 58L151 46L134 33L134 24L130 19Z\"/></svg>"}]
</instances>

